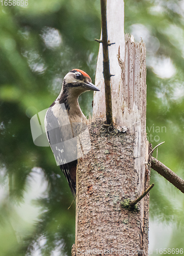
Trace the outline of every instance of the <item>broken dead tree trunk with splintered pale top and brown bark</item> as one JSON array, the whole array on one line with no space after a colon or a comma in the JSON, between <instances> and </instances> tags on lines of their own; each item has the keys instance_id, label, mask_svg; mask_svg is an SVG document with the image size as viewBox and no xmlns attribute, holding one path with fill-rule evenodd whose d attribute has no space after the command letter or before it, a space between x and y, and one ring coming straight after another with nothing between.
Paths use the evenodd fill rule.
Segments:
<instances>
[{"instance_id":1,"label":"broken dead tree trunk with splintered pale top and brown bark","mask_svg":"<svg viewBox=\"0 0 184 256\"><path fill-rule=\"evenodd\" d=\"M115 6L115 2L121 4ZM122 1L115 2L107 1L107 12L111 17L108 24L118 19L118 14L120 20L123 19L123 6L119 11ZM94 96L93 122L89 129L91 151L78 161L72 255L148 255L149 196L144 197L136 209L126 208L128 200L138 198L149 185L146 49L142 41L135 43L133 37L126 35L125 52L121 53L124 60L120 53L117 58L119 38L123 33L122 24L118 24L116 34L111 33L114 27L108 25L109 39L116 43L109 48L110 70L115 75L111 79L115 125L106 125L104 120L106 105L100 46L96 85L101 91Z\"/></svg>"}]
</instances>

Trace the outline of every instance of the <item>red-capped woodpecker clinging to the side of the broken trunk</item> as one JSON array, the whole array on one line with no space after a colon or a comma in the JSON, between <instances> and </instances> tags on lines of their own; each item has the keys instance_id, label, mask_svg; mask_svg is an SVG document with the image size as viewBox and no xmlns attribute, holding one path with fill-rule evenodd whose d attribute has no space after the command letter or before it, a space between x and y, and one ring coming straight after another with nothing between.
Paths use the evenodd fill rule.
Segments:
<instances>
[{"instance_id":1,"label":"red-capped woodpecker clinging to the side of the broken trunk","mask_svg":"<svg viewBox=\"0 0 184 256\"><path fill-rule=\"evenodd\" d=\"M87 119L78 104L78 97L86 91L99 91L90 76L73 69L63 79L57 99L45 115L45 132L57 164L64 173L71 193L76 194L77 135Z\"/></svg>"}]
</instances>

